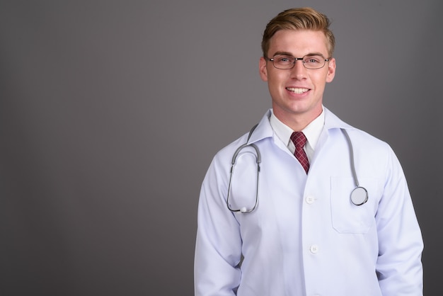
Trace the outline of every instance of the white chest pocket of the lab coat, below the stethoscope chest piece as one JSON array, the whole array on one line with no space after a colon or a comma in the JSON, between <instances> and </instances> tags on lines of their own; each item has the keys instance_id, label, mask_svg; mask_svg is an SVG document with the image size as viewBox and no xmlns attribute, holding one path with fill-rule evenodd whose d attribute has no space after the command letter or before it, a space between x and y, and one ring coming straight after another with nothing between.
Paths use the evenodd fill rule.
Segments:
<instances>
[{"instance_id":1,"label":"white chest pocket of the lab coat, below the stethoscope chest piece","mask_svg":"<svg viewBox=\"0 0 443 296\"><path fill-rule=\"evenodd\" d=\"M354 205L350 195L355 188L352 177L331 177L330 208L333 228L343 234L364 234L375 223L375 205L378 185L375 178L361 178L359 185L366 188L369 198L363 205Z\"/></svg>"}]
</instances>

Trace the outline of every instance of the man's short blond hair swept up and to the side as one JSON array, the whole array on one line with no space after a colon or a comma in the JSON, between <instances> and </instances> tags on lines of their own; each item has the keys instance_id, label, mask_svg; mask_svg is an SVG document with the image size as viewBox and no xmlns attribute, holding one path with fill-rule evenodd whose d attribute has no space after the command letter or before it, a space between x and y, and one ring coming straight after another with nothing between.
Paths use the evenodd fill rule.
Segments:
<instances>
[{"instance_id":1,"label":"man's short blond hair swept up and to the side","mask_svg":"<svg viewBox=\"0 0 443 296\"><path fill-rule=\"evenodd\" d=\"M267 23L263 33L263 57L267 57L270 39L279 30L317 30L325 34L328 41L328 55L332 57L335 47L335 37L329 29L329 18L310 7L291 8L279 13Z\"/></svg>"}]
</instances>

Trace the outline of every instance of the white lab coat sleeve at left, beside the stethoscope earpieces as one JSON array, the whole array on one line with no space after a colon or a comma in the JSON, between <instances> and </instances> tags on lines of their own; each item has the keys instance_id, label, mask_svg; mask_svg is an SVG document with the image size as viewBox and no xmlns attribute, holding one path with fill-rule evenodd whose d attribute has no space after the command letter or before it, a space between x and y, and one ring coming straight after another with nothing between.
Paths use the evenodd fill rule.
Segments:
<instances>
[{"instance_id":1,"label":"white lab coat sleeve at left, beside the stethoscope earpieces","mask_svg":"<svg viewBox=\"0 0 443 296\"><path fill-rule=\"evenodd\" d=\"M235 295L240 284L241 236L236 218L226 207L229 180L225 162L214 158L200 192L194 263L196 296Z\"/></svg>"}]
</instances>

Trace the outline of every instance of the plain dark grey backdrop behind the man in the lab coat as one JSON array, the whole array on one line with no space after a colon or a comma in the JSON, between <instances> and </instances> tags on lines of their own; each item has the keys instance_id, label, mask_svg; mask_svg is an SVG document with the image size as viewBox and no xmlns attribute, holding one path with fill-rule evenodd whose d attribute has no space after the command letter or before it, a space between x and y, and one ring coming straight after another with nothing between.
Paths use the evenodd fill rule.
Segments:
<instances>
[{"instance_id":1,"label":"plain dark grey backdrop behind the man in the lab coat","mask_svg":"<svg viewBox=\"0 0 443 296\"><path fill-rule=\"evenodd\" d=\"M267 21L333 20L325 105L386 140L442 267L439 0L0 1L1 295L192 295L200 184L258 122Z\"/></svg>"}]
</instances>

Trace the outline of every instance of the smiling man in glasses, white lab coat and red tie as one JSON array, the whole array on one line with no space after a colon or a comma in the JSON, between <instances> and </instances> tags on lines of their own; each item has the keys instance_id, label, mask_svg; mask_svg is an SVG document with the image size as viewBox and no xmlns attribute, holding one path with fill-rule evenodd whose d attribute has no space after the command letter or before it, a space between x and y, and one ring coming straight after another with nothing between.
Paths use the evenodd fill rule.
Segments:
<instances>
[{"instance_id":1,"label":"smiling man in glasses, white lab coat and red tie","mask_svg":"<svg viewBox=\"0 0 443 296\"><path fill-rule=\"evenodd\" d=\"M328 27L312 8L267 24L259 69L272 109L209 166L195 295L422 295L422 237L398 159L323 106L335 76Z\"/></svg>"}]
</instances>

